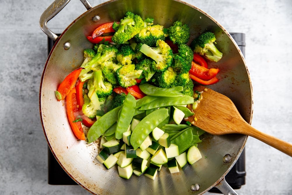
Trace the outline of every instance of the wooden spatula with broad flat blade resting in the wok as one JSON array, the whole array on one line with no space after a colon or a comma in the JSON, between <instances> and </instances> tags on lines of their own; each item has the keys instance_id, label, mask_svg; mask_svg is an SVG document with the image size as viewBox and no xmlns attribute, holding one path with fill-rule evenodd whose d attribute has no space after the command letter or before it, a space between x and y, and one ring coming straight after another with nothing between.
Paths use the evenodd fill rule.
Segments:
<instances>
[{"instance_id":1,"label":"wooden spatula with broad flat blade resting in the wok","mask_svg":"<svg viewBox=\"0 0 292 195\"><path fill-rule=\"evenodd\" d=\"M203 86L196 86L194 90L203 91L203 99L186 121L213 135L239 133L254 137L292 157L292 144L251 127L228 97Z\"/></svg>"}]
</instances>

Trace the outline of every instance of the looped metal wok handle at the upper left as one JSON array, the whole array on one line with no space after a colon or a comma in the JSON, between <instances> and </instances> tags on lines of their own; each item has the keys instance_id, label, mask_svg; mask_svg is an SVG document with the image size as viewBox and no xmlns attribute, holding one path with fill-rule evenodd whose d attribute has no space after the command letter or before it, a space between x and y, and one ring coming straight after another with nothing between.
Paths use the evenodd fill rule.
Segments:
<instances>
[{"instance_id":1,"label":"looped metal wok handle at the upper left","mask_svg":"<svg viewBox=\"0 0 292 195\"><path fill-rule=\"evenodd\" d=\"M41 30L48 35L51 39L56 41L59 37L56 35L53 31L51 31L47 27L47 22L55 17L69 2L70 0L55 0L41 15L41 18L39 19L39 26L41 27ZM92 6L87 0L80 0L81 3L85 6L87 10L91 9Z\"/></svg>"}]
</instances>

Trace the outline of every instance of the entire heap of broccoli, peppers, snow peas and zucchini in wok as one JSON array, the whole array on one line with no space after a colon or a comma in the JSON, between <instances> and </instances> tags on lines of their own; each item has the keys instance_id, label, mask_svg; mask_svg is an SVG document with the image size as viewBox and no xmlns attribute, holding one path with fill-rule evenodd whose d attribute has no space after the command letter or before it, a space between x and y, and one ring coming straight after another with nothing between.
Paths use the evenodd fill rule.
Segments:
<instances>
[{"instance_id":1,"label":"entire heap of broccoli, peppers, snow peas and zucchini in wok","mask_svg":"<svg viewBox=\"0 0 292 195\"><path fill-rule=\"evenodd\" d=\"M155 179L162 165L173 173L199 160L204 131L182 121L194 114L186 105L194 110L202 96L194 81L219 81L220 70L207 63L222 58L215 35L204 32L189 46L187 24L164 28L127 12L87 39L93 48L84 49L80 68L55 91L58 101L66 99L77 139L101 139L96 158L107 168L117 164L126 179L133 173Z\"/></svg>"}]
</instances>

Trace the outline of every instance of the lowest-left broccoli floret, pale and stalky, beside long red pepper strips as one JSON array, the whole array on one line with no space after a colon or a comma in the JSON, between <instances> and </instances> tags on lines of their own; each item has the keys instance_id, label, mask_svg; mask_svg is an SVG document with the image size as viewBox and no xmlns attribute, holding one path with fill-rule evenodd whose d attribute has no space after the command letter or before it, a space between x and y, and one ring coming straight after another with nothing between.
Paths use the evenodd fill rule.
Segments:
<instances>
[{"instance_id":1,"label":"lowest-left broccoli floret, pale and stalky, beside long red pepper strips","mask_svg":"<svg viewBox=\"0 0 292 195\"><path fill-rule=\"evenodd\" d=\"M94 88L91 88L88 92L88 95L84 95L82 112L85 116L89 118L94 118L96 116L96 112L101 109L102 103L99 101Z\"/></svg>"}]
</instances>

